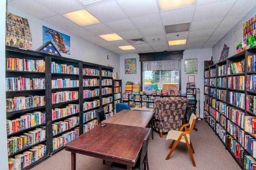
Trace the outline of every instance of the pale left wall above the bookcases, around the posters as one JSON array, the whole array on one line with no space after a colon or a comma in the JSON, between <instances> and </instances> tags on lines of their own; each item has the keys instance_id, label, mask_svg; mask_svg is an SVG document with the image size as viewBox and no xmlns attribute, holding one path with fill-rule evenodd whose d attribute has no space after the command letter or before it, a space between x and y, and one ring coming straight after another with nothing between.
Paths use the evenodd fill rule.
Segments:
<instances>
[{"instance_id":1,"label":"pale left wall above the bookcases, around the posters","mask_svg":"<svg viewBox=\"0 0 256 170\"><path fill-rule=\"evenodd\" d=\"M28 19L28 23L31 29L32 34L32 50L38 49L41 45L43 45L42 40L42 26L49 27L61 33L64 33L70 36L70 55L60 53L62 57L67 57L71 59L77 59L81 61L86 61L89 63L96 63L107 66L108 64L112 64L114 67L114 72L119 72L119 57L120 55L113 53L107 49L104 49L98 45L90 43L81 37L78 37L72 33L64 31L50 23L47 23L43 20L35 18L29 14L26 14L22 11L17 10L11 6L7 6L7 12L15 14L17 16ZM109 59L106 60L106 56L109 55Z\"/></svg>"}]
</instances>

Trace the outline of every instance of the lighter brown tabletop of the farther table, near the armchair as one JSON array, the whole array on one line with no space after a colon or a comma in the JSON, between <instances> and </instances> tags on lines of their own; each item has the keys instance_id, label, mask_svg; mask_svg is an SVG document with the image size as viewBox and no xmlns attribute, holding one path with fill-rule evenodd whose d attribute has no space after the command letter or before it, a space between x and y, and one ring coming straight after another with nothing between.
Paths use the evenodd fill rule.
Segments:
<instances>
[{"instance_id":1,"label":"lighter brown tabletop of the farther table, near the armchair","mask_svg":"<svg viewBox=\"0 0 256 170\"><path fill-rule=\"evenodd\" d=\"M123 109L110 118L102 121L103 123L113 123L118 125L129 125L146 127L153 117L152 111L128 110Z\"/></svg>"}]
</instances>

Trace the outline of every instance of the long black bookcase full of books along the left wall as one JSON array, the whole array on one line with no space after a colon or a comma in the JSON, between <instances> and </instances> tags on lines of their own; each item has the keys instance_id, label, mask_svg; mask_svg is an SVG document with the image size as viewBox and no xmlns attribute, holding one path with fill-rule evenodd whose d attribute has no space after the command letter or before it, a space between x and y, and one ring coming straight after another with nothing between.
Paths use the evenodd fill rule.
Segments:
<instances>
[{"instance_id":1,"label":"long black bookcase full of books along the left wall","mask_svg":"<svg viewBox=\"0 0 256 170\"><path fill-rule=\"evenodd\" d=\"M107 118L113 115L112 72L108 66L6 46L9 161L30 169L96 126L96 109L104 107Z\"/></svg>"}]
</instances>

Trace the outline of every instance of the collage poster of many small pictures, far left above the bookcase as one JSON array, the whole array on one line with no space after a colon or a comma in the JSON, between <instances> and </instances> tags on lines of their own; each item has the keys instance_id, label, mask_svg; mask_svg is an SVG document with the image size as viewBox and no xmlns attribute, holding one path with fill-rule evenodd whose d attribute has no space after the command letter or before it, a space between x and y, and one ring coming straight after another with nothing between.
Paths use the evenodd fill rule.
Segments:
<instances>
[{"instance_id":1,"label":"collage poster of many small pictures, far left above the bookcase","mask_svg":"<svg viewBox=\"0 0 256 170\"><path fill-rule=\"evenodd\" d=\"M22 49L31 49L32 36L26 18L6 12L5 44Z\"/></svg>"}]
</instances>

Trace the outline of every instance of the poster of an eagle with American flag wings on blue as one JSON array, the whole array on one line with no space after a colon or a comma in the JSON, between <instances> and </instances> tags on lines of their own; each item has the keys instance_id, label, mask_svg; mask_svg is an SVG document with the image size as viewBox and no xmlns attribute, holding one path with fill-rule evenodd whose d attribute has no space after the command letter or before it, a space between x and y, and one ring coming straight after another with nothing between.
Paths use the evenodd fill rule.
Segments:
<instances>
[{"instance_id":1,"label":"poster of an eagle with American flag wings on blue","mask_svg":"<svg viewBox=\"0 0 256 170\"><path fill-rule=\"evenodd\" d=\"M43 44L52 41L60 53L70 55L70 36L43 26Z\"/></svg>"}]
</instances>

